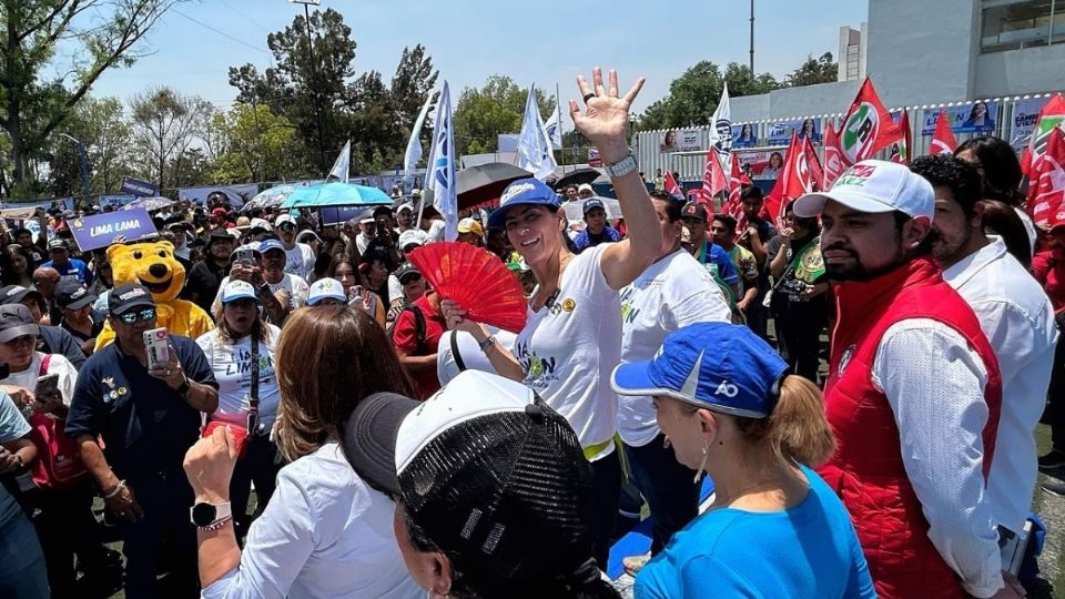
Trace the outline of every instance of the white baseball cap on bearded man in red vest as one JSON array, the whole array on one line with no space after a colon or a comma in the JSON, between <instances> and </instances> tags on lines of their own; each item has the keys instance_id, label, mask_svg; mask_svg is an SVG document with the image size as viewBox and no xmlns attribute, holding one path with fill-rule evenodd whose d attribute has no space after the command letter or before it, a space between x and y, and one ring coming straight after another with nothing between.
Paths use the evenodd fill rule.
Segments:
<instances>
[{"instance_id":1,"label":"white baseball cap on bearded man in red vest","mask_svg":"<svg viewBox=\"0 0 1065 599\"><path fill-rule=\"evenodd\" d=\"M912 219L930 221L935 214L932 184L909 166L882 160L863 160L843 171L831 190L799 197L793 205L795 216L818 216L829 200L859 212L897 210Z\"/></svg>"}]
</instances>

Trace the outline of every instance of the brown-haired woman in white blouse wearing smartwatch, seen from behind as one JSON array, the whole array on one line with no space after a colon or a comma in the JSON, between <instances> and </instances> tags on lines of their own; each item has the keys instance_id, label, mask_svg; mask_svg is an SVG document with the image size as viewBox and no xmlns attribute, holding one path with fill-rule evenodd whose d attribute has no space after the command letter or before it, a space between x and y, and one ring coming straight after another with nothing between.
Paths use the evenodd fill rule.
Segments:
<instances>
[{"instance_id":1,"label":"brown-haired woman in white blouse wearing smartwatch, seen from behind","mask_svg":"<svg viewBox=\"0 0 1065 599\"><path fill-rule=\"evenodd\" d=\"M203 597L424 597L393 534L395 505L359 478L337 439L366 396L410 390L384 331L361 309L313 306L285 323L275 373L277 448L291 463L243 552L230 508L237 437L220 427L185 456L196 496ZM227 448L219 451L214 448Z\"/></svg>"}]
</instances>

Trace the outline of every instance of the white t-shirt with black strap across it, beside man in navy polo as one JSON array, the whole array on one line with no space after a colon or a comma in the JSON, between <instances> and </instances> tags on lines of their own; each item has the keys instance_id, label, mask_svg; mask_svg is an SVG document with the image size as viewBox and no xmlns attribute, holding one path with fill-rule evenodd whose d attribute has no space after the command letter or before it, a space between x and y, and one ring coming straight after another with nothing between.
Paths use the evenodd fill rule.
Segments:
<instances>
[{"instance_id":1,"label":"white t-shirt with black strap across it, beside man in navy polo","mask_svg":"<svg viewBox=\"0 0 1065 599\"><path fill-rule=\"evenodd\" d=\"M258 342L258 422L270 430L281 399L274 376L274 347L281 329L272 324L266 326L270 327L270 342ZM196 338L196 345L207 356L214 379L219 382L219 409L211 415L211 419L245 426L251 408L248 394L252 390L251 335L236 343L222 342L219 339L219 329L214 328Z\"/></svg>"}]
</instances>

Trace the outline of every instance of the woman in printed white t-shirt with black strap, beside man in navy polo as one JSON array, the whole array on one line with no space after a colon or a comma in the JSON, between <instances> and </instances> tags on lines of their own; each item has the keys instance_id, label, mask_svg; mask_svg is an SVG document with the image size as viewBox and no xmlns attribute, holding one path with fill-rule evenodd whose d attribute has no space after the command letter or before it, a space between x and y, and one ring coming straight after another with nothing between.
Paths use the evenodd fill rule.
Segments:
<instances>
[{"instance_id":1,"label":"woman in printed white t-shirt with black strap, beside man in navy polo","mask_svg":"<svg viewBox=\"0 0 1065 599\"><path fill-rule=\"evenodd\" d=\"M262 318L255 288L240 280L225 284L214 322L217 328L200 336L196 345L219 383L219 409L209 415L209 420L247 432L244 454L230 483L237 538L243 538L251 521L247 500L252 484L256 502L265 506L281 469L277 446L270 439L280 397L274 351L281 329Z\"/></svg>"}]
</instances>

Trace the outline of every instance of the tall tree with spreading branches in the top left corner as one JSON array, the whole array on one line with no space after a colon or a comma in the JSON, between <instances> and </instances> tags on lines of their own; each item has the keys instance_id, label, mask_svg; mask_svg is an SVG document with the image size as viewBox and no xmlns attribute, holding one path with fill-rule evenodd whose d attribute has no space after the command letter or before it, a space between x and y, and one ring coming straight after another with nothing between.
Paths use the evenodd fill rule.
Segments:
<instances>
[{"instance_id":1,"label":"tall tree with spreading branches in the top left corner","mask_svg":"<svg viewBox=\"0 0 1065 599\"><path fill-rule=\"evenodd\" d=\"M0 41L0 128L10 138L17 187L28 183L31 161L44 158L52 133L100 75L136 61L145 52L144 35L179 1L0 0L7 31ZM60 64L60 50L70 55L69 67Z\"/></svg>"}]
</instances>

